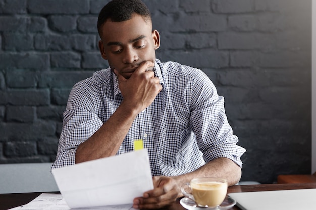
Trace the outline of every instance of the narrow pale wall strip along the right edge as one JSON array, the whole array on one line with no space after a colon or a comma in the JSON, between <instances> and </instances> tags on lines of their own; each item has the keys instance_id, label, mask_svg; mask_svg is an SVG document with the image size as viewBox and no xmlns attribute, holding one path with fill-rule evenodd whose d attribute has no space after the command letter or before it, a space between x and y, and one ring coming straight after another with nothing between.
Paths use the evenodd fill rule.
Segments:
<instances>
[{"instance_id":1,"label":"narrow pale wall strip along the right edge","mask_svg":"<svg viewBox=\"0 0 316 210\"><path fill-rule=\"evenodd\" d=\"M311 172L316 171L316 0L312 1L312 151Z\"/></svg>"}]
</instances>

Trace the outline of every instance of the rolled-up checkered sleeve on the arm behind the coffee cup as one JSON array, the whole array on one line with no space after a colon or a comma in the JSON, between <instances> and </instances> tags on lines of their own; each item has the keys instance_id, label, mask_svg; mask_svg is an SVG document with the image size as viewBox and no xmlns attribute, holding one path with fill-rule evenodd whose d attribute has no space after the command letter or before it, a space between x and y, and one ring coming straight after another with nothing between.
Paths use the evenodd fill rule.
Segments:
<instances>
[{"instance_id":1,"label":"rolled-up checkered sleeve on the arm behind the coffee cup","mask_svg":"<svg viewBox=\"0 0 316 210\"><path fill-rule=\"evenodd\" d=\"M225 157L241 167L240 157L246 150L237 145L238 137L233 135L225 114L224 97L217 94L214 84L204 73L198 74L192 83L194 89L188 99L192 104L190 123L203 159L209 162Z\"/></svg>"}]
</instances>

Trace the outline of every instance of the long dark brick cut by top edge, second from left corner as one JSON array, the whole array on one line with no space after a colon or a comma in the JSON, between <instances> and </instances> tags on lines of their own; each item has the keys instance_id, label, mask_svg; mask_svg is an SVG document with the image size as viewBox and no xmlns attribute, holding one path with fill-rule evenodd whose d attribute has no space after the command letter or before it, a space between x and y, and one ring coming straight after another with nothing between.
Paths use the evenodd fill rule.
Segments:
<instances>
[{"instance_id":1,"label":"long dark brick cut by top edge, second from left corner","mask_svg":"<svg viewBox=\"0 0 316 210\"><path fill-rule=\"evenodd\" d=\"M89 13L88 0L29 0L28 10L35 14L84 14Z\"/></svg>"}]
</instances>

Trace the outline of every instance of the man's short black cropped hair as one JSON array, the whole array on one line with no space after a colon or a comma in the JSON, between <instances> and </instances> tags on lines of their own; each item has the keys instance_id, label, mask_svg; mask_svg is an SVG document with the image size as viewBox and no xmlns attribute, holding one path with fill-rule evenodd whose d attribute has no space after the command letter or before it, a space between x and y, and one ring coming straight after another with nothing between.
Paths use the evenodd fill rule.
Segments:
<instances>
[{"instance_id":1,"label":"man's short black cropped hair","mask_svg":"<svg viewBox=\"0 0 316 210\"><path fill-rule=\"evenodd\" d=\"M137 13L151 21L151 14L147 6L140 0L112 0L99 13L97 30L101 35L102 25L110 19L113 22L122 22L131 19Z\"/></svg>"}]
</instances>

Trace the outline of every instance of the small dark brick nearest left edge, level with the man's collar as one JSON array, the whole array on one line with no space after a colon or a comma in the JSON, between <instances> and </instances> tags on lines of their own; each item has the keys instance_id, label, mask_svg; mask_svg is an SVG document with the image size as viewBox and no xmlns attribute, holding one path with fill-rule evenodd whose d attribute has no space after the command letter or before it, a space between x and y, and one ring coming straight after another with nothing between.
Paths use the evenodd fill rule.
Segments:
<instances>
[{"instance_id":1,"label":"small dark brick nearest left edge, level with the man's collar","mask_svg":"<svg viewBox=\"0 0 316 210\"><path fill-rule=\"evenodd\" d=\"M6 73L6 80L10 88L35 88L38 75L35 71L10 70Z\"/></svg>"}]
</instances>

